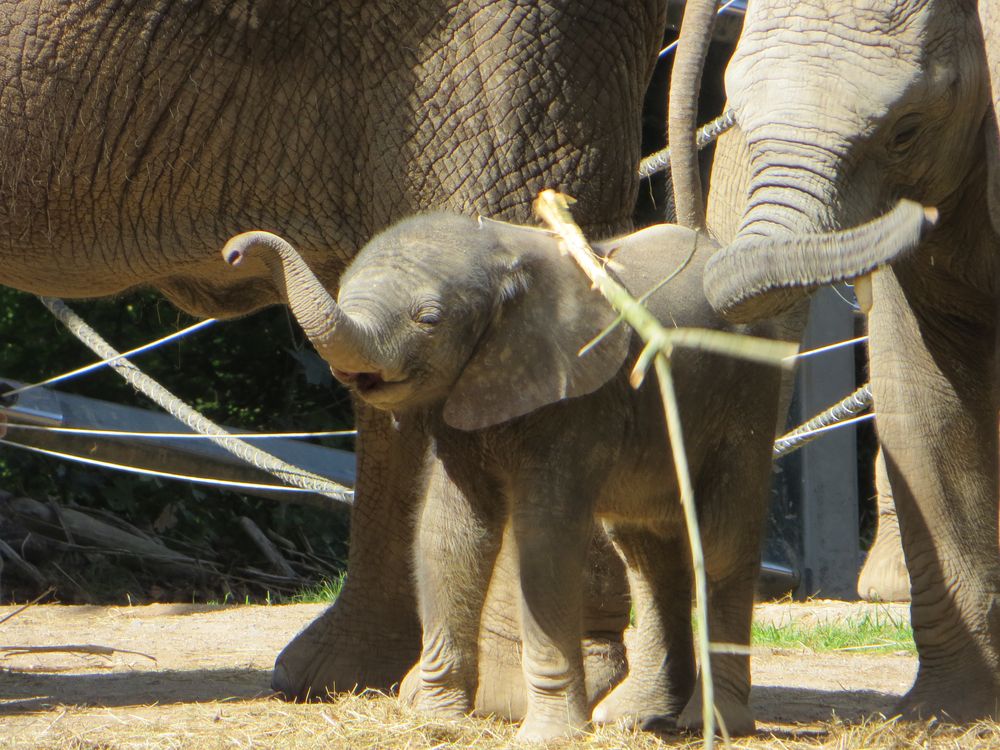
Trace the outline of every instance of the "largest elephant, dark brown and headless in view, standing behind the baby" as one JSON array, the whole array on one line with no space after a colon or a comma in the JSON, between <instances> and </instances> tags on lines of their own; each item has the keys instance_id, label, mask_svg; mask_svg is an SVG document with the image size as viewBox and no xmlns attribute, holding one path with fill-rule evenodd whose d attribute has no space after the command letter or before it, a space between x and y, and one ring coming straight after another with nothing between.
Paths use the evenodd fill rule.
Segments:
<instances>
[{"instance_id":1,"label":"largest elephant, dark brown and headless in view, standing behind the baby","mask_svg":"<svg viewBox=\"0 0 1000 750\"><path fill-rule=\"evenodd\" d=\"M329 287L376 231L430 207L529 222L556 187L595 235L626 229L664 23L664 0L8 3L0 282L64 297L152 286L232 316L280 301L259 261L219 273L219 248L249 227L280 229ZM425 439L364 408L358 424L350 575L278 658L273 684L293 697L388 688L419 653ZM628 618L608 550L588 619L598 666ZM496 588L485 673L519 674ZM502 684L481 686L501 710Z\"/></svg>"}]
</instances>

